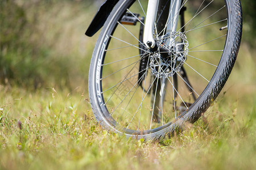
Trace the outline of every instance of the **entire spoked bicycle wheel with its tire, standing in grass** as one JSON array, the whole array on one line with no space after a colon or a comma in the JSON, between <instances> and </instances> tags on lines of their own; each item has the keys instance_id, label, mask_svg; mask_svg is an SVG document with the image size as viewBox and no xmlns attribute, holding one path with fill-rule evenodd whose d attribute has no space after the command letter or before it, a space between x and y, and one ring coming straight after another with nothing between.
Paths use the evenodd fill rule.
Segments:
<instances>
[{"instance_id":1,"label":"entire spoked bicycle wheel with its tire, standing in grass","mask_svg":"<svg viewBox=\"0 0 256 170\"><path fill-rule=\"evenodd\" d=\"M240 2L184 0L179 12L187 6L185 16L171 33L162 19L168 18L167 6L156 18L154 52L142 42L147 7L142 0L118 2L93 52L93 112L105 128L127 137L159 138L185 121L195 122L220 93L236 60Z\"/></svg>"}]
</instances>

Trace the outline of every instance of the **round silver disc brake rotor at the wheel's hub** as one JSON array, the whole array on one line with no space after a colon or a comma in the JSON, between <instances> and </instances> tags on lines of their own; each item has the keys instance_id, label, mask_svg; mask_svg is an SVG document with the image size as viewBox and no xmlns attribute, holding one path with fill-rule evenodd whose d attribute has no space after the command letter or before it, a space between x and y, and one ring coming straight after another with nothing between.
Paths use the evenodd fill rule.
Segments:
<instances>
[{"instance_id":1,"label":"round silver disc brake rotor at the wheel's hub","mask_svg":"<svg viewBox=\"0 0 256 170\"><path fill-rule=\"evenodd\" d=\"M150 55L152 74L158 78L170 77L180 70L187 58L187 37L182 32L171 32L158 37L155 41L158 50Z\"/></svg>"}]
</instances>

